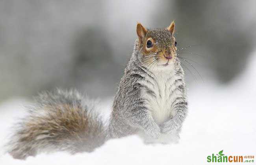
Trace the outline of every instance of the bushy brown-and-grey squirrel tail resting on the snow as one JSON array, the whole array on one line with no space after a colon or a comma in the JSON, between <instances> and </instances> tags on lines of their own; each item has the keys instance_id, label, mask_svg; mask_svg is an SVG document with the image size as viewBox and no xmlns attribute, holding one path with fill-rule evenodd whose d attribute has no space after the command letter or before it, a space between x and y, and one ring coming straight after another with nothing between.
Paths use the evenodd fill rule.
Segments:
<instances>
[{"instance_id":1,"label":"bushy brown-and-grey squirrel tail resting on the snow","mask_svg":"<svg viewBox=\"0 0 256 165\"><path fill-rule=\"evenodd\" d=\"M38 152L91 152L102 145L106 130L96 104L74 90L44 92L28 107L29 115L15 125L8 152L17 159Z\"/></svg>"}]
</instances>

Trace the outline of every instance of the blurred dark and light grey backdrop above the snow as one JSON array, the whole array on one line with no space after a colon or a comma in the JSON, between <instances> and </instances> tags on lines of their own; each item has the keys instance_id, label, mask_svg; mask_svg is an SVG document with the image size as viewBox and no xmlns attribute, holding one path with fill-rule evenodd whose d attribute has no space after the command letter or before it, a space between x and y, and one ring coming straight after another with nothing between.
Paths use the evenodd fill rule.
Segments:
<instances>
[{"instance_id":1,"label":"blurred dark and light grey backdrop above the snow","mask_svg":"<svg viewBox=\"0 0 256 165\"><path fill-rule=\"evenodd\" d=\"M203 79L229 83L255 48L255 6L254 0L1 0L0 100L56 87L114 95L138 21L162 28L175 20L178 48L194 46L182 52L195 53L180 55L202 65L190 61ZM194 75L187 71L188 84L202 82L184 64Z\"/></svg>"}]
</instances>

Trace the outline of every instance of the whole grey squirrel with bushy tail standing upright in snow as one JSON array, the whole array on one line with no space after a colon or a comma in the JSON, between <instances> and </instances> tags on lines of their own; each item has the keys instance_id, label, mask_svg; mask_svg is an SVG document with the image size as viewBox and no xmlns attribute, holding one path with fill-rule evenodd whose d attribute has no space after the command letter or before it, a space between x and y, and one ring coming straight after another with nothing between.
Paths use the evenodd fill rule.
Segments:
<instances>
[{"instance_id":1,"label":"whole grey squirrel with bushy tail standing upright in snow","mask_svg":"<svg viewBox=\"0 0 256 165\"><path fill-rule=\"evenodd\" d=\"M106 123L97 113L98 103L76 90L43 92L15 125L7 152L26 159L40 152L92 152L108 139L133 134L149 143L179 138L187 95L174 28L174 22L163 29L137 23L138 38Z\"/></svg>"}]
</instances>

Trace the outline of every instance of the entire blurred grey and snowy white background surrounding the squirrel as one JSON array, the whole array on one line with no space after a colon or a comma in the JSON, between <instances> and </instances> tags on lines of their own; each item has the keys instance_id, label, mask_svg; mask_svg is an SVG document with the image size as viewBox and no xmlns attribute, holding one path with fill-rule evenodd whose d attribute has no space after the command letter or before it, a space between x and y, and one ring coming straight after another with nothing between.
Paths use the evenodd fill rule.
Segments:
<instances>
[{"instance_id":1,"label":"entire blurred grey and snowy white background surrounding the squirrel","mask_svg":"<svg viewBox=\"0 0 256 165\"><path fill-rule=\"evenodd\" d=\"M1 0L0 145L13 121L24 116L23 105L42 90L77 88L100 97L109 109L137 22L158 28L172 20L178 49L192 46L180 55L200 74L183 62L189 116L180 143L148 146L132 136L91 154L42 154L27 161L3 154L0 164L205 164L208 155L222 149L254 154L254 0Z\"/></svg>"}]
</instances>

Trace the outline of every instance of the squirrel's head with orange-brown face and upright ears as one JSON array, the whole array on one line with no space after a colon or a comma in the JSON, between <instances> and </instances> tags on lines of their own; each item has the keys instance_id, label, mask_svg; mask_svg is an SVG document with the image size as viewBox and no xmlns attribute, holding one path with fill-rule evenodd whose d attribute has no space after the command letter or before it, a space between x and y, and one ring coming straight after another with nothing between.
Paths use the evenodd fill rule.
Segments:
<instances>
[{"instance_id":1,"label":"squirrel's head with orange-brown face and upright ears","mask_svg":"<svg viewBox=\"0 0 256 165\"><path fill-rule=\"evenodd\" d=\"M154 65L166 67L174 61L177 51L177 42L173 36L174 22L164 29L147 29L137 23L137 50L139 60L144 66Z\"/></svg>"}]
</instances>

